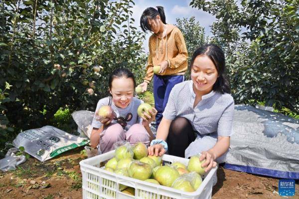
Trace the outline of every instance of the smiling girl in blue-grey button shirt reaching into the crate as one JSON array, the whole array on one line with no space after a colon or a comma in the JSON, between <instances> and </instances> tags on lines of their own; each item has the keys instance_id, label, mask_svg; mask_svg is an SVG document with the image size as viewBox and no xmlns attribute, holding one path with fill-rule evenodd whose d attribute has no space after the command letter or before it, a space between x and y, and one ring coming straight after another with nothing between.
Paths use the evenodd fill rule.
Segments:
<instances>
[{"instance_id":1,"label":"smiling girl in blue-grey button shirt reaching into the crate","mask_svg":"<svg viewBox=\"0 0 299 199\"><path fill-rule=\"evenodd\" d=\"M170 93L149 155L161 156L167 149L170 155L185 158L201 153L207 172L216 162L225 161L232 135L234 100L229 94L221 48L214 44L198 48L190 68L191 81L176 85Z\"/></svg>"}]
</instances>

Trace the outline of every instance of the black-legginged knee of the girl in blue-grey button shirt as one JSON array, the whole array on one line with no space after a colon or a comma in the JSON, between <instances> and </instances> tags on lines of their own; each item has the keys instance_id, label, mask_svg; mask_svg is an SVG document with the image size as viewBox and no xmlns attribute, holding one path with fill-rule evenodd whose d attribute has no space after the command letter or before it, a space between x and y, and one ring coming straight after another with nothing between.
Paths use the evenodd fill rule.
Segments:
<instances>
[{"instance_id":1,"label":"black-legginged knee of the girl in blue-grey button shirt","mask_svg":"<svg viewBox=\"0 0 299 199\"><path fill-rule=\"evenodd\" d=\"M167 137L168 154L185 157L185 150L195 140L192 125L185 117L176 117L170 124Z\"/></svg>"}]
</instances>

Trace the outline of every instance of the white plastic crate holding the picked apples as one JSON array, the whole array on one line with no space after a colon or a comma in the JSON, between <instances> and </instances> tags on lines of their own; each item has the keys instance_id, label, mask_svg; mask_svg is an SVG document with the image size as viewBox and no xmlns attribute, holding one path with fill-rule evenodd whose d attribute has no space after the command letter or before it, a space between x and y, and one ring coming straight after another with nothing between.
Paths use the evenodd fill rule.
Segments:
<instances>
[{"instance_id":1,"label":"white plastic crate holding the picked apples","mask_svg":"<svg viewBox=\"0 0 299 199\"><path fill-rule=\"evenodd\" d=\"M110 151L80 162L82 172L82 190L83 199L211 199L212 195L212 176L215 174L217 167L211 169L206 174L202 184L195 192L183 192L170 187L148 183L138 179L121 176L104 170L100 167L101 162L115 156L115 151ZM179 161L188 164L189 159L176 156L162 156L165 162ZM130 196L119 191L120 184L135 189L135 196Z\"/></svg>"}]
</instances>

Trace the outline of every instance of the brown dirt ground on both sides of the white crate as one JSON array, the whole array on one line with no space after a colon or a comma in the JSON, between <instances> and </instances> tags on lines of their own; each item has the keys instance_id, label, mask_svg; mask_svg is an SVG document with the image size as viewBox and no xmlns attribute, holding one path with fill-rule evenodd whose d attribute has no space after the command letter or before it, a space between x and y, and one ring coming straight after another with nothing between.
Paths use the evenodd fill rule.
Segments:
<instances>
[{"instance_id":1,"label":"brown dirt ground on both sides of the white crate","mask_svg":"<svg viewBox=\"0 0 299 199\"><path fill-rule=\"evenodd\" d=\"M16 170L0 172L0 199L82 199L79 162L86 157L83 148L40 163L29 158ZM219 167L212 199L281 199L279 179L266 178ZM287 197L284 197L287 198ZM299 185L296 195L299 199Z\"/></svg>"}]
</instances>

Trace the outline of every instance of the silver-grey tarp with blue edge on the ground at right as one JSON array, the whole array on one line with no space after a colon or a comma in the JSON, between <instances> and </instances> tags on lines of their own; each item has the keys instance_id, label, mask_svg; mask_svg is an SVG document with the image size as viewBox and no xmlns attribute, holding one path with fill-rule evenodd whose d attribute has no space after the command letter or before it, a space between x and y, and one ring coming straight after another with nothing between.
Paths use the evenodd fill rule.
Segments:
<instances>
[{"instance_id":1,"label":"silver-grey tarp with blue edge on the ground at right","mask_svg":"<svg viewBox=\"0 0 299 199\"><path fill-rule=\"evenodd\" d=\"M226 169L299 179L299 120L236 105Z\"/></svg>"}]
</instances>

